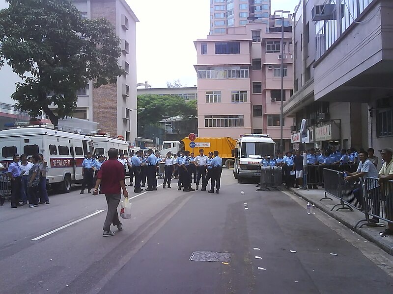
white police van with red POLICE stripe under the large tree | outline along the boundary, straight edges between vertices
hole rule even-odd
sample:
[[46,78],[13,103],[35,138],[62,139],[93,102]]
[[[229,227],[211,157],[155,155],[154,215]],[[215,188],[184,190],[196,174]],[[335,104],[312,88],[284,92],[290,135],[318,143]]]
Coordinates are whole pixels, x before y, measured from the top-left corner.
[[0,162],[5,168],[14,154],[29,157],[42,153],[48,162],[47,183],[54,189],[68,193],[71,184],[82,182],[84,156],[87,152],[94,154],[89,137],[56,130],[51,123],[19,122],[13,126],[0,131]]

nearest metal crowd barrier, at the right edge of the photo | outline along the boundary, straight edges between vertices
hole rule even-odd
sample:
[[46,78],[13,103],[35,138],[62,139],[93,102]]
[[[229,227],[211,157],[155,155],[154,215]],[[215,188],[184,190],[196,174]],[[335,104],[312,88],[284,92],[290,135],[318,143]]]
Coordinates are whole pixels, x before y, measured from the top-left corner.
[[[378,183],[377,178],[366,178],[363,185],[363,200],[365,203],[365,220],[359,226],[384,226],[384,223],[371,222],[370,217],[393,223],[393,181]],[[360,223],[358,221],[355,227]]]

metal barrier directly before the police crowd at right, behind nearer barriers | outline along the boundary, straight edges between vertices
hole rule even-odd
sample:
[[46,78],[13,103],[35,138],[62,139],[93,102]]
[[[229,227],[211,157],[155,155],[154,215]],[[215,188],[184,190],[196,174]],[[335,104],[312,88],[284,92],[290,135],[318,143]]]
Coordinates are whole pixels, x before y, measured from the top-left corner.
[[307,181],[305,186],[316,186],[326,184],[324,181],[324,169],[335,170],[338,172],[356,172],[358,165],[356,164],[331,164],[331,165],[308,165],[306,167]]

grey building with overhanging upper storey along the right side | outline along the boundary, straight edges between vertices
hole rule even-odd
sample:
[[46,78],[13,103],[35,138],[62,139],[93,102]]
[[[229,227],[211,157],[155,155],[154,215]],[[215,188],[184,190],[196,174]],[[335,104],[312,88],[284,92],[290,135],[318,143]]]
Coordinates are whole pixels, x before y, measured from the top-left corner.
[[308,119],[311,145],[392,147],[393,2],[336,2],[301,0],[296,8],[295,93],[284,115],[296,128]]

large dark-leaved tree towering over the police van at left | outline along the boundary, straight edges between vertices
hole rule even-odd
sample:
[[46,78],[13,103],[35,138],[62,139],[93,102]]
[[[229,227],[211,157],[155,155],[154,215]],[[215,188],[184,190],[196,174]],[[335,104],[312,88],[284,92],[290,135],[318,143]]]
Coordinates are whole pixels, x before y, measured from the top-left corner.
[[[16,106],[52,123],[72,116],[79,89],[116,83],[119,39],[106,19],[89,20],[70,0],[7,0],[0,10],[0,66],[19,75]],[[57,107],[56,112],[49,108]]]

